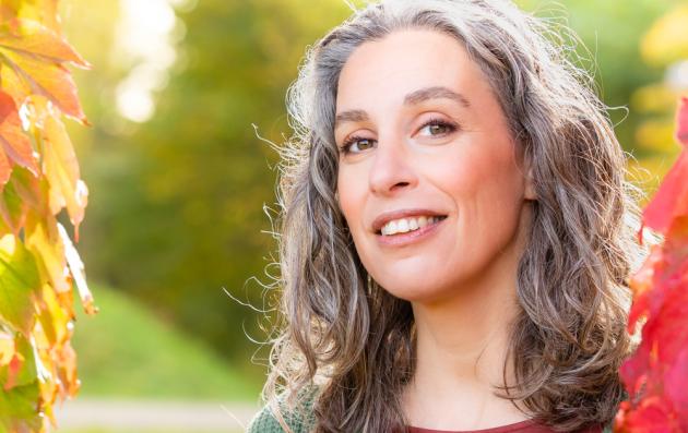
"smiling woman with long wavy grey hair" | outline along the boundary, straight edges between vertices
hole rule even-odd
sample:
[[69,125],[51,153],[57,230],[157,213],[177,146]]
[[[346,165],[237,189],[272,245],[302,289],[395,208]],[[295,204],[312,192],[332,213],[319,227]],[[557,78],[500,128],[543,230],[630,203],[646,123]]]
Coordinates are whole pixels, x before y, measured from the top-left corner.
[[507,1],[385,0],[310,50],[249,431],[608,429],[637,209],[604,106],[547,36]]

